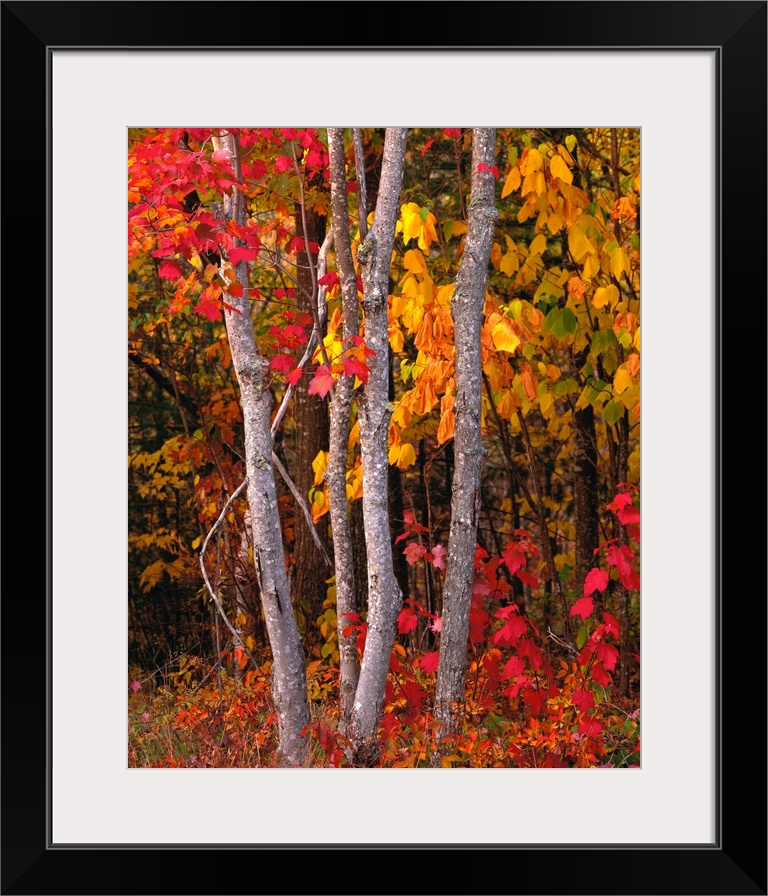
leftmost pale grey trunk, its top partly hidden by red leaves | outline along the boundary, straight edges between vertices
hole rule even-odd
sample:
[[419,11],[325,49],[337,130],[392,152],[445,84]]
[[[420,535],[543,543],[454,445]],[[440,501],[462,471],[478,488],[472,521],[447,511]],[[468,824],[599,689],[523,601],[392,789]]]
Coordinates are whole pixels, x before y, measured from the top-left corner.
[[[239,181],[240,158],[235,138],[223,131],[215,142],[219,144],[216,148],[227,153]],[[237,224],[244,224],[243,197],[234,188],[231,196],[224,197],[224,215]],[[279,761],[284,766],[296,766],[303,765],[305,760],[305,741],[301,732],[309,722],[309,701],[304,651],[285,569],[272,468],[271,400],[265,386],[269,362],[259,354],[253,336],[247,265],[241,262],[234,268],[237,279],[246,289],[241,298],[228,297],[228,304],[235,310],[225,309],[224,319],[240,386],[254,563],[272,650],[272,698],[277,711]]]

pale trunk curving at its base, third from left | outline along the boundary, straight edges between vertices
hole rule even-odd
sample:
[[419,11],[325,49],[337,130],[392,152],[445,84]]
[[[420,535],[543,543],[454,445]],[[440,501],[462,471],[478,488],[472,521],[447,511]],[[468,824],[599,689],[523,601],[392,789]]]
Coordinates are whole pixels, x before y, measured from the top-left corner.
[[397,613],[402,604],[402,593],[392,564],[389,532],[387,441],[392,405],[388,398],[387,298],[406,133],[406,128],[387,128],[373,226],[357,250],[357,260],[363,270],[365,342],[376,352],[369,361],[368,383],[358,407],[363,517],[368,548],[368,631],[350,734],[356,760],[361,764],[370,764],[378,755],[376,731],[384,703]]

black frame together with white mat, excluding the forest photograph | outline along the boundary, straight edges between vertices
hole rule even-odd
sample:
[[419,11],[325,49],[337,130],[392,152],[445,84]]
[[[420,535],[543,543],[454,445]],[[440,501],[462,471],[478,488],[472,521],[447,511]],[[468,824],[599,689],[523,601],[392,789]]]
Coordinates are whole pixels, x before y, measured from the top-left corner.
[[[6,234],[47,236],[49,483],[45,587],[3,606],[4,893],[366,891],[380,886],[371,858],[412,850],[419,879],[400,865],[384,889],[766,893],[764,541],[733,502],[764,470],[749,434],[764,378],[766,8],[380,5],[377,45],[342,47],[322,7],[287,22],[258,3],[3,3]],[[436,33],[435,16],[461,46],[399,45]],[[219,121],[641,129],[641,769],[404,770],[401,783],[127,767],[126,133]],[[158,849],[166,861],[144,870]],[[274,875],[259,861],[238,884],[209,861],[225,849],[259,850]],[[343,878],[318,868],[310,883],[283,855],[326,849],[344,851]]]

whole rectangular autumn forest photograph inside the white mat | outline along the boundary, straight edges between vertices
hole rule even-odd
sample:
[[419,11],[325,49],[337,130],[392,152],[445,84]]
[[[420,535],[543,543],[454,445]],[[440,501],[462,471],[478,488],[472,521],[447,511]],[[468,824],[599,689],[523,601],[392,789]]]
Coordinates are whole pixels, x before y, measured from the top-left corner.
[[127,152],[129,766],[639,768],[639,128]]

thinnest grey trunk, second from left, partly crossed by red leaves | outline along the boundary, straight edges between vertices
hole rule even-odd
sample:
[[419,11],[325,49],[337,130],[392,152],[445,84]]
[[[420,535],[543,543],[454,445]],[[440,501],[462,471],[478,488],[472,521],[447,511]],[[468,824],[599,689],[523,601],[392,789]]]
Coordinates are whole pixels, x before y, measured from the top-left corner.
[[[336,246],[336,266],[341,283],[343,314],[342,338],[344,348],[360,330],[357,307],[357,275],[352,260],[349,235],[349,205],[344,155],[344,131],[328,128],[328,153],[331,167],[331,209],[333,211],[333,240]],[[336,568],[336,618],[339,637],[339,731],[346,734],[352,704],[360,675],[357,653],[357,631],[345,636],[344,630],[352,620],[350,613],[358,613],[355,597],[355,567],[352,550],[352,531],[347,503],[347,451],[349,447],[349,412],[352,406],[354,379],[339,377],[331,400],[330,452],[326,477],[328,503],[333,531],[334,565]]]

